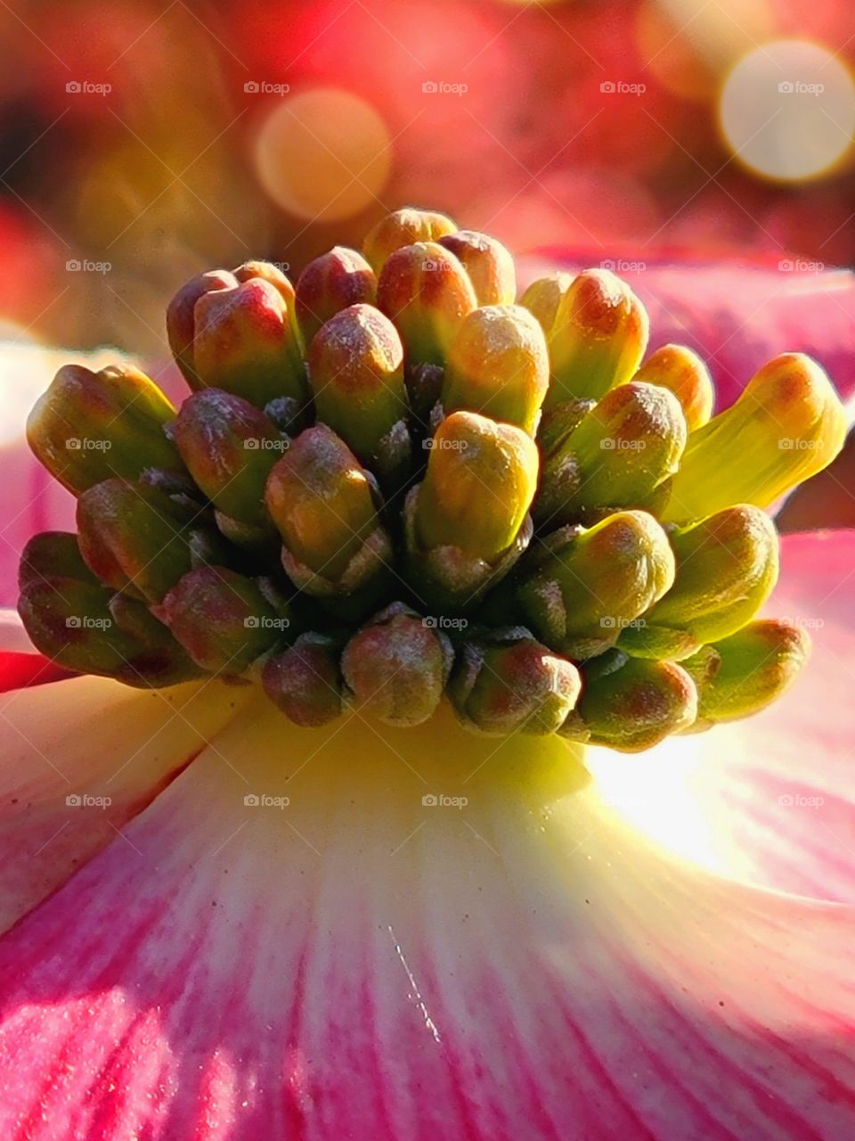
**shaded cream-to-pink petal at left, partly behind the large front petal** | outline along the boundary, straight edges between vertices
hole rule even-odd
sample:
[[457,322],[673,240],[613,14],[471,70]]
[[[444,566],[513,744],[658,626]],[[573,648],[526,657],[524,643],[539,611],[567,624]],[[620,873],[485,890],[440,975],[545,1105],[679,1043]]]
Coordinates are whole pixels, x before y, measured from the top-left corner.
[[121,835],[245,696],[217,682],[140,693],[104,678],[0,695],[0,930]]

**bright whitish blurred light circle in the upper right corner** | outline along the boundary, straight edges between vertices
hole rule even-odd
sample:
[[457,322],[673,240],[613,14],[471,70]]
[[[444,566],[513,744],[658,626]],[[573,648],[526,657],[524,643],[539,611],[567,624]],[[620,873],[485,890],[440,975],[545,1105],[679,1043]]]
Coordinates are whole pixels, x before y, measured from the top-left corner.
[[750,51],[720,98],[725,139],[757,173],[803,181],[831,171],[855,131],[855,82],[831,50],[776,40]]

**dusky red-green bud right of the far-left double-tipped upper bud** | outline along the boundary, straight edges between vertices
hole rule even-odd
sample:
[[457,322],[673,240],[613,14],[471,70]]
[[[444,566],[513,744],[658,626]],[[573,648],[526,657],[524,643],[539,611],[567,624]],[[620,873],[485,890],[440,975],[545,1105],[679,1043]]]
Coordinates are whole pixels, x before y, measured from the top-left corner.
[[260,408],[233,393],[202,389],[181,405],[173,438],[218,511],[262,532],[274,531],[264,488],[288,442]]

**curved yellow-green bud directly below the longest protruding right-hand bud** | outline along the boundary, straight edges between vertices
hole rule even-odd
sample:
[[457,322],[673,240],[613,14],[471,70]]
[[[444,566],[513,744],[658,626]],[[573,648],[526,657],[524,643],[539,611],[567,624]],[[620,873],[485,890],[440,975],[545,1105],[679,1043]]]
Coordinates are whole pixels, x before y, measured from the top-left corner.
[[759,610],[777,581],[777,533],[759,508],[725,508],[669,535],[674,585],[628,629],[620,645],[642,657],[685,657],[734,633]]

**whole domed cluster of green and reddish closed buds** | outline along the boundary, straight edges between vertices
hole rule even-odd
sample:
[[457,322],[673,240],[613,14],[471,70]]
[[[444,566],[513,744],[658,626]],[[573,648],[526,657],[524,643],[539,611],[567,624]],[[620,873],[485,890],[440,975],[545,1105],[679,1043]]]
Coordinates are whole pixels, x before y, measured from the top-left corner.
[[28,439],[78,496],[31,541],[19,610],[62,665],[132,686],[256,681],[300,726],[392,726],[443,695],[495,736],[638,751],[762,709],[801,629],[755,621],[764,510],[845,418],[785,354],[715,418],[703,363],[613,274],[532,283],[442,215],[401,210],[296,289],[194,278],[168,330],[192,394],[67,365]]

